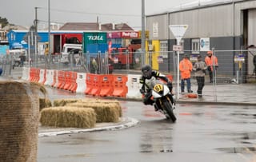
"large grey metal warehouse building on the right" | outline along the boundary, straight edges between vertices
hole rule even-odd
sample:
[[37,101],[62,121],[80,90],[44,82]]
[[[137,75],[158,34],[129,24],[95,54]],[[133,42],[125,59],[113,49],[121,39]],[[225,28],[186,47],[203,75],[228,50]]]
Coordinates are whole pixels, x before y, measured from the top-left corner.
[[[187,25],[186,33],[182,37],[182,53],[190,56],[206,51],[216,50],[218,57],[218,73],[236,75],[242,69],[243,75],[253,73],[253,57],[256,53],[235,52],[233,50],[247,49],[256,45],[256,1],[198,1],[159,14],[146,15],[146,30],[150,31],[147,45],[161,56],[162,63],[154,62],[154,69],[172,72],[174,57],[165,51],[172,51],[176,45],[170,25]],[[234,57],[241,55],[244,61],[237,64]]]

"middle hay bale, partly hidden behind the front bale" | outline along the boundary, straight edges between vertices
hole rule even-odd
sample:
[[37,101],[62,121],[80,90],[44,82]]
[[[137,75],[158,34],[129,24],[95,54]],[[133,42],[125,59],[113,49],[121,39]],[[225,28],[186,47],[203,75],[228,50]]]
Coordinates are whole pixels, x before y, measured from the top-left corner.
[[118,122],[120,116],[119,107],[114,103],[93,103],[93,102],[76,102],[67,106],[78,108],[92,108],[96,113],[96,122]]

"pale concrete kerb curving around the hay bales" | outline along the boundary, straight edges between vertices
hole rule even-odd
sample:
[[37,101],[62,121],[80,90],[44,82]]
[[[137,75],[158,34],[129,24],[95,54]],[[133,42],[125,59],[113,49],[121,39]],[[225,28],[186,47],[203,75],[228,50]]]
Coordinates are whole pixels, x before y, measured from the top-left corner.
[[123,128],[130,128],[138,124],[137,119],[131,117],[122,117],[118,123],[98,123],[95,128],[46,128],[46,130],[40,130],[38,136],[59,136],[65,134],[75,134],[82,132],[95,132],[95,131],[106,131],[106,130],[118,130]]

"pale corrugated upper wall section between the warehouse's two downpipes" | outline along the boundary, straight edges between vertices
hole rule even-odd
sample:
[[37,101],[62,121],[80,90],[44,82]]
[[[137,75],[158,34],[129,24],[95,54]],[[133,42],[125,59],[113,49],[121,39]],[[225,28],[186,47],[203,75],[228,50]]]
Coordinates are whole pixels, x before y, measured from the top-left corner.
[[[183,38],[229,37],[233,35],[233,6],[212,6],[170,14],[170,24],[186,24]],[[174,38],[170,33],[170,38]]]

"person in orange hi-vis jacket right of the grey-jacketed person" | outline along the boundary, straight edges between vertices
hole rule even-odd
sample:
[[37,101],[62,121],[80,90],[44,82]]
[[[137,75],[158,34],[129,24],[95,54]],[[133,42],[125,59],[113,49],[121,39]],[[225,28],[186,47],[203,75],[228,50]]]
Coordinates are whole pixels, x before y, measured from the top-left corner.
[[213,51],[208,51],[205,58],[206,65],[208,66],[210,83],[213,82],[213,77],[216,74],[216,69],[218,68],[218,58],[213,55]]

